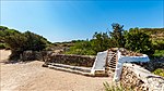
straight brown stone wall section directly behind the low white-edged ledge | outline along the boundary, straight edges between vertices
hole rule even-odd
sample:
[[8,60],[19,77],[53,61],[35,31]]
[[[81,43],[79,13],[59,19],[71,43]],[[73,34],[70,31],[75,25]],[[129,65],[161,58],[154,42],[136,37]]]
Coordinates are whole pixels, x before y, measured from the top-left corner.
[[46,64],[59,63],[74,66],[92,67],[95,61],[95,56],[86,55],[68,55],[51,53],[47,55]]

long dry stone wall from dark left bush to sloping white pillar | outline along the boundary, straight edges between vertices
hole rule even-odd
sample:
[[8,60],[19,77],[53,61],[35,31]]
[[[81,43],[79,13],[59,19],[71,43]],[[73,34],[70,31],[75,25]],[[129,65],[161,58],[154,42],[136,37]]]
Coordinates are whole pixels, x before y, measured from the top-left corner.
[[85,67],[92,67],[95,61],[95,56],[57,54],[51,51],[24,51],[20,57],[22,61],[38,60],[44,61],[46,64],[58,63]]

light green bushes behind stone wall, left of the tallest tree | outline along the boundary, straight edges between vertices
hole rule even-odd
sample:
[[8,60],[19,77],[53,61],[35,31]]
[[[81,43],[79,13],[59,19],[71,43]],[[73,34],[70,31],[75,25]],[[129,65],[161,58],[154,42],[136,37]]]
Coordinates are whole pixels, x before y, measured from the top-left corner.
[[105,51],[112,47],[107,32],[95,32],[93,39],[75,42],[67,54],[96,55],[97,52]]

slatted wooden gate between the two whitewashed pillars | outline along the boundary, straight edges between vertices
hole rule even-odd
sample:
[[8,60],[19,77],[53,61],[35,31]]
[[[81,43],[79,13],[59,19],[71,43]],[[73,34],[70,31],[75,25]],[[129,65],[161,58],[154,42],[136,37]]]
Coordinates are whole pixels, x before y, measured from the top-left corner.
[[106,70],[108,76],[113,77],[117,65],[117,51],[108,50],[106,58]]

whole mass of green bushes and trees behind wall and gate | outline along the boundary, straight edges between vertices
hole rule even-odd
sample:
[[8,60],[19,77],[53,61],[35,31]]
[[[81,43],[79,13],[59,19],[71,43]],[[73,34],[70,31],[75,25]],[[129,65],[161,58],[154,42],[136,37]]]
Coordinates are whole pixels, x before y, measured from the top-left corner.
[[67,53],[92,55],[109,48],[127,48],[134,52],[152,55],[154,50],[162,50],[164,47],[163,40],[156,41],[155,44],[153,44],[151,36],[148,32],[143,32],[142,28],[124,30],[124,26],[117,23],[112,24],[112,26],[113,31],[109,31],[109,34],[95,32],[93,39],[77,42]]

